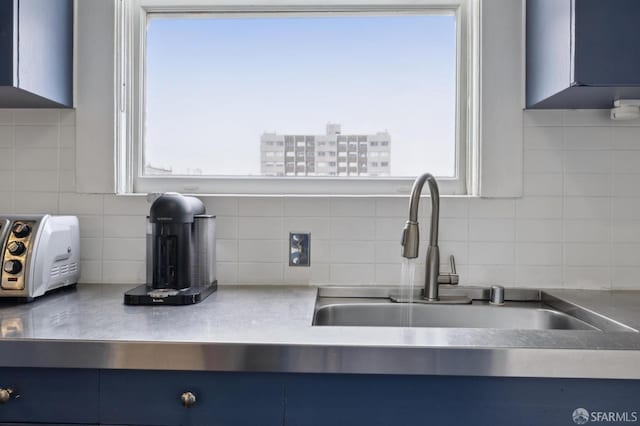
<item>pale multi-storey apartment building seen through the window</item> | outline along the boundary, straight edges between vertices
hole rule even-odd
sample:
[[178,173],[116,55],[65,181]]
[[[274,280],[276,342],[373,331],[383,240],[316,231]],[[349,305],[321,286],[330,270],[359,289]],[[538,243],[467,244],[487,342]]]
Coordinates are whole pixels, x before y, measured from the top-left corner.
[[260,138],[260,172],[266,176],[389,176],[391,136],[343,135],[327,124],[324,135],[264,133]]

